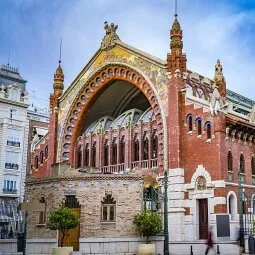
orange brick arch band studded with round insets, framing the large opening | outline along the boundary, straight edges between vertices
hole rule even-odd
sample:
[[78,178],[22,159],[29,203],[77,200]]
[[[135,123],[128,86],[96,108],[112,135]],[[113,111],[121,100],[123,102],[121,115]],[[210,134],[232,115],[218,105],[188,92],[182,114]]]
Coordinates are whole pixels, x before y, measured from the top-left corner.
[[77,94],[68,113],[63,130],[62,141],[60,141],[60,161],[67,161],[73,164],[74,144],[86,121],[86,113],[88,109],[97,100],[98,96],[116,81],[129,82],[133,86],[136,86],[148,99],[153,109],[158,127],[159,166],[162,167],[163,162],[164,166],[167,165],[166,143],[164,143],[164,140],[167,141],[166,121],[164,119],[164,112],[160,105],[157,91],[155,87],[153,88],[151,81],[145,78],[145,75],[141,74],[141,72],[134,67],[120,63],[108,63],[104,65],[96,73],[91,75],[86,84],[84,84]]

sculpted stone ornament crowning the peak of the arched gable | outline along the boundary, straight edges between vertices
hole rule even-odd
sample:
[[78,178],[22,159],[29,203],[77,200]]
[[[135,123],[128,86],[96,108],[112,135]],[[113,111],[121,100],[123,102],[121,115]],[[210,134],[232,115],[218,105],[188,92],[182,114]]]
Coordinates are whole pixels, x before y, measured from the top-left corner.
[[111,25],[108,25],[108,22],[105,21],[104,29],[105,29],[105,36],[101,43],[101,49],[109,50],[114,47],[116,41],[120,40],[119,36],[116,33],[116,30],[118,29],[118,25],[114,25],[114,23],[111,23]]

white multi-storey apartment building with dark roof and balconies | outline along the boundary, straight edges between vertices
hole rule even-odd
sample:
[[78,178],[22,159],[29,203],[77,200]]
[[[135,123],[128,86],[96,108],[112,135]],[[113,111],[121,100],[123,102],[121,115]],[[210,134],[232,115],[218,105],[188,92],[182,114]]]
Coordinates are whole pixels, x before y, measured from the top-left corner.
[[28,93],[17,68],[0,66],[0,237],[17,231],[28,148]]

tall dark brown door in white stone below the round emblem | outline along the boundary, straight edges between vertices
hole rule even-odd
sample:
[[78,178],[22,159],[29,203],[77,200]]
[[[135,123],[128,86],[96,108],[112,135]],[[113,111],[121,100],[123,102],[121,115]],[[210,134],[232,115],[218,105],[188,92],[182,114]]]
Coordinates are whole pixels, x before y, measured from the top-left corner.
[[199,239],[207,239],[208,237],[208,200],[198,200],[199,213]]

